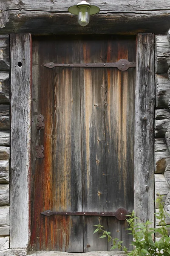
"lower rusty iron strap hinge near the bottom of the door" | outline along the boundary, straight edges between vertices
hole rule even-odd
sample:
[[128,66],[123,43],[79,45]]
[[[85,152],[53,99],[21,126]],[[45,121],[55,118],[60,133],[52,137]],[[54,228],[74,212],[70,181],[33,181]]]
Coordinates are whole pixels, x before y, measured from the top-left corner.
[[125,221],[127,218],[127,212],[124,208],[119,208],[116,212],[51,212],[50,210],[46,210],[45,212],[41,212],[41,214],[45,216],[51,215],[79,215],[79,216],[106,216],[106,217],[116,217],[119,221]]

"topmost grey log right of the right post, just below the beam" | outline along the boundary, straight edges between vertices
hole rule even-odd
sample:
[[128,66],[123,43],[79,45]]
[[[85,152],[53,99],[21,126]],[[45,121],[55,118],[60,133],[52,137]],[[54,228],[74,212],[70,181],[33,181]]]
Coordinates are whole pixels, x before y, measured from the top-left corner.
[[167,39],[167,35],[156,35],[156,55],[157,56],[170,56],[170,43]]

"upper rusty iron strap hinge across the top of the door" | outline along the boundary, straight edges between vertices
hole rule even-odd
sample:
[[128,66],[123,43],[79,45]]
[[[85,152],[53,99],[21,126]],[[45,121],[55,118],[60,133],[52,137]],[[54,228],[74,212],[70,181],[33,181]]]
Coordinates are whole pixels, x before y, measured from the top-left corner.
[[70,63],[70,64],[62,64],[62,63],[53,63],[49,62],[44,64],[43,66],[48,68],[53,67],[117,67],[121,71],[128,70],[129,67],[136,67],[136,62],[129,62],[127,59],[120,59],[117,62],[110,63]]

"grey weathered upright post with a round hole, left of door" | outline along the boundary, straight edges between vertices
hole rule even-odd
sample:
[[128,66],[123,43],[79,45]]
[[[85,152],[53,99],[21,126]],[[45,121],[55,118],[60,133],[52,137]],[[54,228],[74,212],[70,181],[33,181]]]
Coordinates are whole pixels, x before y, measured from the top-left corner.
[[[18,66],[18,62],[22,66]],[[29,239],[31,35],[11,35],[11,248]],[[24,218],[23,218],[24,216]]]

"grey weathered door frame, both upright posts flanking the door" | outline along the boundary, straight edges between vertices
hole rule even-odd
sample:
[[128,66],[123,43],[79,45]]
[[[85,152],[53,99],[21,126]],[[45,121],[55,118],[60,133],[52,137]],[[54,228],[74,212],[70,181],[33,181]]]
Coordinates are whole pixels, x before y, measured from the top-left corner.
[[[134,210],[154,222],[154,35],[138,34],[136,49]],[[10,248],[22,255],[30,239],[31,64],[31,34],[11,34]]]

